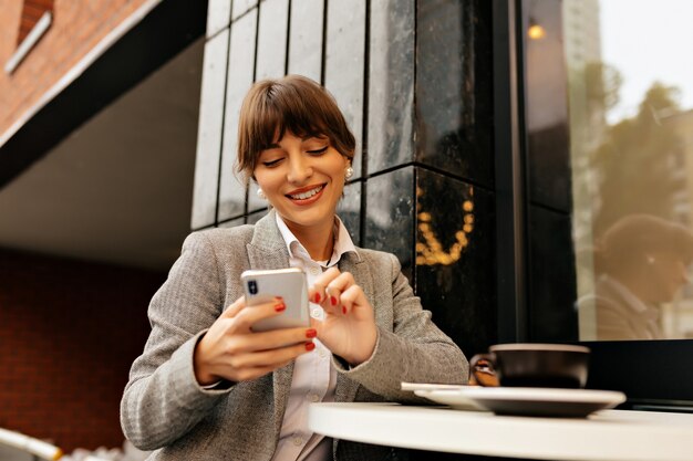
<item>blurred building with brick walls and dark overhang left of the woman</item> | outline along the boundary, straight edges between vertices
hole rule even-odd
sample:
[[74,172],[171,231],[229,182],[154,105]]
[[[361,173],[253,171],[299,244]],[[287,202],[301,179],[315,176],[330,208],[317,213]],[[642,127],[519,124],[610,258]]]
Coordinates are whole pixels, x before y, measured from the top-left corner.
[[2,428],[123,443],[146,306],[189,231],[206,9],[2,2]]

